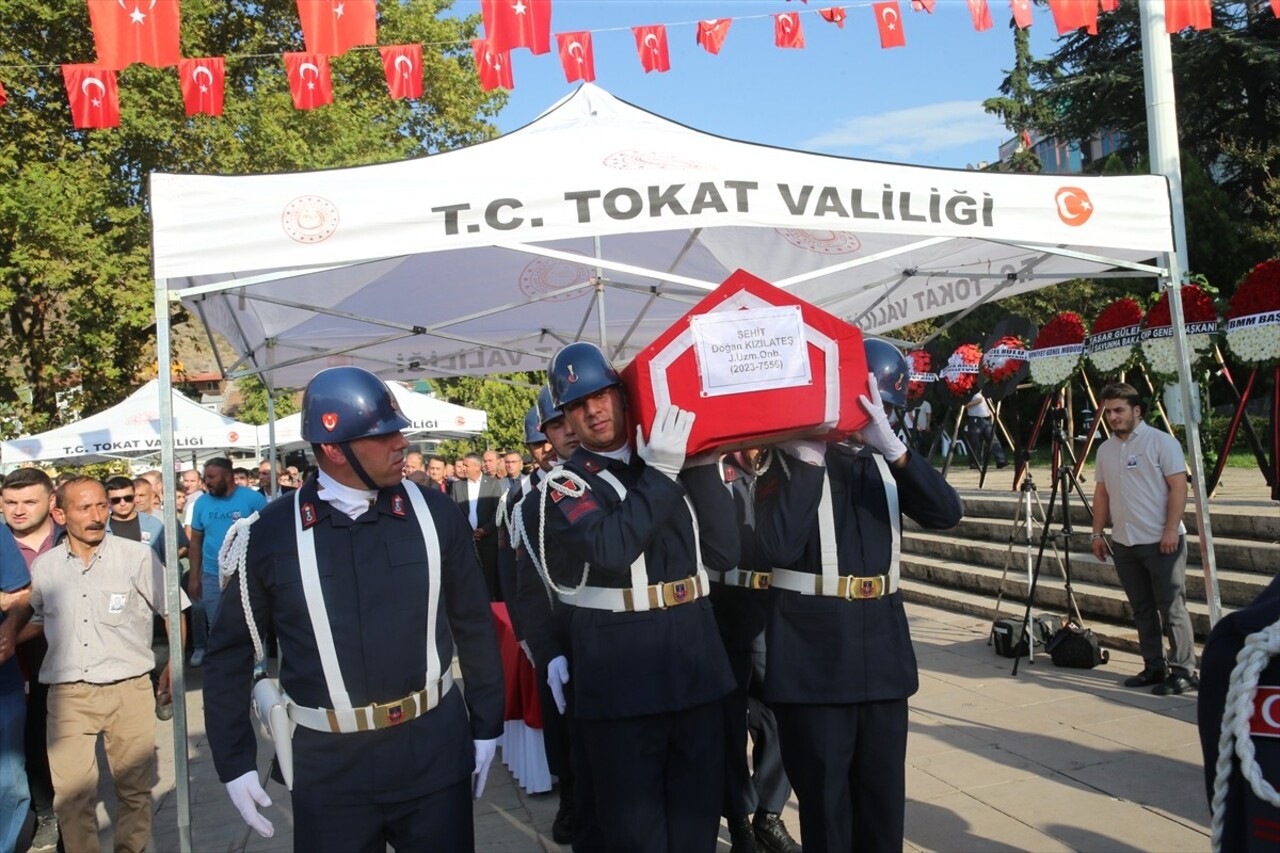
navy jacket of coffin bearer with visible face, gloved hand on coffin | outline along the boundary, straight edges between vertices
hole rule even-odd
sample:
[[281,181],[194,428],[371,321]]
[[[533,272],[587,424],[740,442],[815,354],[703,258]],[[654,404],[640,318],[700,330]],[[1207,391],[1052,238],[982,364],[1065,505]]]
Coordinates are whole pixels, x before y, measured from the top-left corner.
[[[716,465],[689,469],[677,483],[639,456],[628,465],[580,447],[564,467],[591,488],[580,498],[552,502],[548,512],[548,539],[564,555],[550,567],[561,587],[576,587],[589,562],[588,584],[627,588],[631,564],[641,553],[650,584],[692,575],[698,564],[686,489],[703,520],[705,566],[723,571],[737,565],[737,529],[727,523],[732,507]],[[604,467],[626,487],[626,501],[598,475]],[[573,694],[582,720],[682,711],[719,699],[733,686],[707,598],[658,611],[573,607],[572,613]]]

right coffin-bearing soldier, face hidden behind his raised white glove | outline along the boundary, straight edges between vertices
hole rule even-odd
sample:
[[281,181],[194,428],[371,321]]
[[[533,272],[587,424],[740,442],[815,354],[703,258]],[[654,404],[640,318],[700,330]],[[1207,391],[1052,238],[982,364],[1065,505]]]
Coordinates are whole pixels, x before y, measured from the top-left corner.
[[[902,444],[908,368],[868,341],[870,423],[851,443],[788,442],[756,483],[756,538],[773,571],[764,699],[800,800],[808,853],[901,850],[906,699],[919,688],[899,592],[901,514],[955,526],[955,489]],[[783,470],[785,469],[785,470]]]

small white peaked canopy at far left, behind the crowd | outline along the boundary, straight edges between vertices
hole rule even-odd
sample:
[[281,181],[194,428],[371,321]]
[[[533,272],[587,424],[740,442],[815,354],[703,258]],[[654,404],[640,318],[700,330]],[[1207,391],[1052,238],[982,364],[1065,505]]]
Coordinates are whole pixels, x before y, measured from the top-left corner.
[[[0,462],[88,464],[145,456],[160,452],[160,383],[152,379],[106,411],[47,433],[0,442]],[[173,394],[173,437],[174,446],[183,452],[259,450],[257,426],[224,418],[177,391]]]

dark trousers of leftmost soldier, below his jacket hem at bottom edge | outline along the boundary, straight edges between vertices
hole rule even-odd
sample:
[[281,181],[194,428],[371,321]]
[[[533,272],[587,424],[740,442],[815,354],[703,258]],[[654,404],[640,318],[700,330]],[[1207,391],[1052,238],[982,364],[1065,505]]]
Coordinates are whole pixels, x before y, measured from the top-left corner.
[[293,849],[300,853],[475,850],[471,779],[402,803],[317,803],[293,794]]

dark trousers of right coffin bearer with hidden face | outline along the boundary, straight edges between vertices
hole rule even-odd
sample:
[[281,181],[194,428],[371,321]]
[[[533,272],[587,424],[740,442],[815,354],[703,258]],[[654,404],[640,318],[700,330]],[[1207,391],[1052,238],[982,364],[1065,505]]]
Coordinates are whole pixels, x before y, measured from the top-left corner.
[[777,704],[805,853],[902,849],[906,699]]

